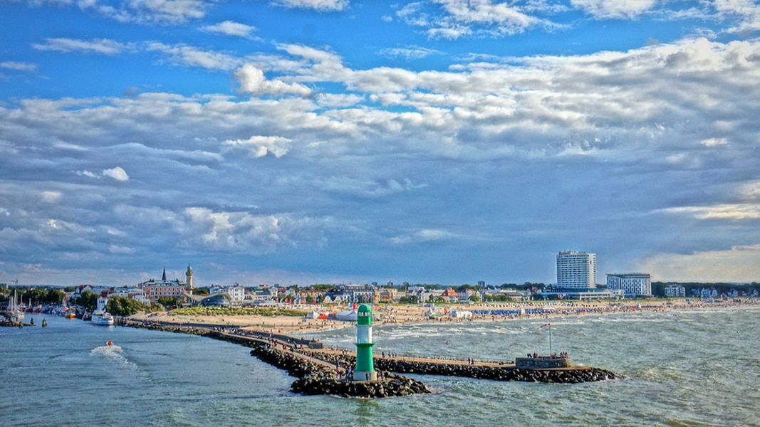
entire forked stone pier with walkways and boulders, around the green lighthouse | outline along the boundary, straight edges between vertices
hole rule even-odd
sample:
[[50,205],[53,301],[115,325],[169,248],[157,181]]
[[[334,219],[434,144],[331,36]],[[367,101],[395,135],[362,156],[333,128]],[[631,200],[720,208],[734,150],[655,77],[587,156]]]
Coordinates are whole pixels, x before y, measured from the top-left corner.
[[[495,381],[530,381],[574,384],[625,378],[619,373],[584,365],[572,365],[568,358],[531,357],[533,365],[511,362],[442,359],[435,356],[373,356],[375,375],[363,381],[354,375],[356,350],[325,347],[318,340],[282,334],[268,334],[227,327],[197,327],[160,324],[122,318],[119,324],[159,331],[196,334],[251,347],[251,355],[298,378],[291,391],[302,394],[331,394],[344,397],[394,397],[430,393],[421,381],[401,374],[448,375]],[[543,361],[543,362],[539,362]],[[518,364],[515,364],[518,362]],[[543,363],[543,365],[537,365]],[[366,365],[366,362],[364,362]],[[560,366],[562,365],[562,366]]]

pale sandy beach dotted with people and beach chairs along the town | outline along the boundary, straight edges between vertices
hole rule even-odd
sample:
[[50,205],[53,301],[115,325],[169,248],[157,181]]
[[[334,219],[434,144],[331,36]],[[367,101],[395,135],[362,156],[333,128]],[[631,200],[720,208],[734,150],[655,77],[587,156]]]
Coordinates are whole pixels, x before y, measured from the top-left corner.
[[[760,299],[743,302],[701,302],[686,299],[673,300],[632,300],[632,301],[567,301],[567,302],[515,302],[502,304],[435,305],[435,317],[431,318],[431,307],[419,305],[382,304],[375,305],[375,324],[420,324],[456,323],[470,321],[511,321],[518,319],[552,319],[568,316],[604,315],[620,312],[665,312],[701,308],[728,308],[737,305],[757,305]],[[350,308],[321,305],[288,305],[287,308],[303,312],[335,314],[350,311]],[[542,314],[530,312],[543,309]],[[483,314],[483,312],[512,312],[511,314]],[[452,312],[469,312],[467,318],[454,318]],[[515,313],[517,312],[517,313]],[[353,327],[353,322],[334,319],[311,319],[293,316],[262,315],[176,315],[169,313],[139,313],[131,316],[135,320],[157,321],[166,324],[194,326],[233,326],[251,331],[265,331],[277,334],[304,334],[326,331],[341,327]]]

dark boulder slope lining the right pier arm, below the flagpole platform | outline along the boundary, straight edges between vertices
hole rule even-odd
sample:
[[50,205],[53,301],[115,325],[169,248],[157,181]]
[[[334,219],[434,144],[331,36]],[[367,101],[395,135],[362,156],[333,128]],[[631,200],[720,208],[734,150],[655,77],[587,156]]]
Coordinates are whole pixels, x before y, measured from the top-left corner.
[[[333,364],[353,365],[350,355],[315,352],[315,357]],[[622,379],[625,376],[606,369],[588,366],[571,366],[555,369],[524,369],[514,365],[483,366],[451,362],[421,362],[404,358],[375,358],[375,368],[402,374],[446,375],[496,381],[528,381],[575,384],[581,382]]]

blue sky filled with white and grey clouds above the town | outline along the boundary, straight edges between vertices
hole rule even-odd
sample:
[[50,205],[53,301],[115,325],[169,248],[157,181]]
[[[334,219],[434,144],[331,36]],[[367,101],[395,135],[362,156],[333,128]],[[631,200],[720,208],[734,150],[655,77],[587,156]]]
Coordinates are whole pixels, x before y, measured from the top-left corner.
[[0,0],[0,282],[760,281],[749,0]]

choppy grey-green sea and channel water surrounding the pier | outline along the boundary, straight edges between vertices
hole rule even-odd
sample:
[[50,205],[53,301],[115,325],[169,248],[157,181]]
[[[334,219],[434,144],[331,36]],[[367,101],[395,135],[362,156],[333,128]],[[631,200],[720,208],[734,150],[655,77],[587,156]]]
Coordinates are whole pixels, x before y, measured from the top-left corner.
[[[629,379],[420,375],[435,394],[360,400],[291,394],[293,378],[235,344],[48,317],[45,328],[0,328],[0,425],[760,425],[758,320],[758,308],[556,319],[553,351]],[[513,359],[548,351],[542,323],[379,326],[373,336],[378,353]],[[354,334],[318,337],[352,346]]]

